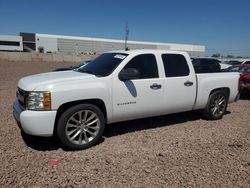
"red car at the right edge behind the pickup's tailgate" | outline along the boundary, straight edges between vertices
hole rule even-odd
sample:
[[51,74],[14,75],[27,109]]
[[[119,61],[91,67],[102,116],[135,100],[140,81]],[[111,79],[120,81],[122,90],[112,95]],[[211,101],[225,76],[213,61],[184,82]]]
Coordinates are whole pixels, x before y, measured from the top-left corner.
[[225,72],[239,72],[240,73],[240,91],[250,90],[250,64],[241,64],[230,66],[224,70]]

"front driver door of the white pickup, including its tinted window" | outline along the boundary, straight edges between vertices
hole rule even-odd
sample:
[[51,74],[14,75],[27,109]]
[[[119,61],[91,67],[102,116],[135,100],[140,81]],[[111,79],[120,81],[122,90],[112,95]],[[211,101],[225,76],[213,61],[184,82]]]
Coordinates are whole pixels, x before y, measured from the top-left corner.
[[163,110],[163,80],[154,54],[132,58],[123,69],[135,68],[138,79],[113,79],[113,122],[159,115]]

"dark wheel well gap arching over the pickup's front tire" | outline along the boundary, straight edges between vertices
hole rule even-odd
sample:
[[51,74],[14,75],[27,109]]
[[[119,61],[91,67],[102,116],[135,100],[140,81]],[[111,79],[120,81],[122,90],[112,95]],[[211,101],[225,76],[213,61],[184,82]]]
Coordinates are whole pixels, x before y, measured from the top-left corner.
[[59,120],[60,116],[62,115],[62,113],[65,112],[67,109],[71,108],[72,106],[75,106],[78,104],[83,104],[83,103],[93,104],[93,105],[97,106],[98,108],[100,108],[100,110],[102,111],[102,113],[104,115],[105,121],[107,120],[106,106],[101,99],[86,99],[86,100],[67,102],[67,103],[62,104],[57,110],[56,119],[55,119],[55,123],[54,123],[54,131],[53,131],[54,135],[56,134],[58,120]]

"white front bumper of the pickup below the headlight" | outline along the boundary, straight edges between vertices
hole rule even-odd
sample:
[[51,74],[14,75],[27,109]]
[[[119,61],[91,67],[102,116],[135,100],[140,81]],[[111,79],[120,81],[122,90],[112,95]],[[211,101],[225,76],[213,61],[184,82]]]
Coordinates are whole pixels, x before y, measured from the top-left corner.
[[26,134],[45,137],[53,135],[56,111],[23,110],[16,100],[13,103],[13,115]]

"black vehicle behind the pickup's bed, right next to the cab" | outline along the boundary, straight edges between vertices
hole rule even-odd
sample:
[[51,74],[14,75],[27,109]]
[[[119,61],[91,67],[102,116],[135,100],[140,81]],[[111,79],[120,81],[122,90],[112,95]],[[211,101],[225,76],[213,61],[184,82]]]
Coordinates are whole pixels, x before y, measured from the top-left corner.
[[213,58],[191,58],[196,73],[221,72],[221,61]]

